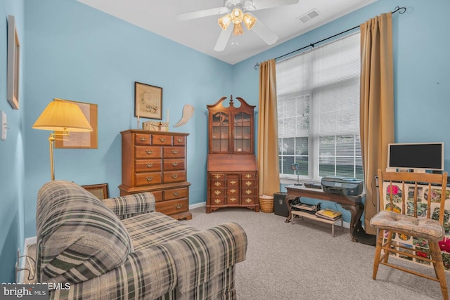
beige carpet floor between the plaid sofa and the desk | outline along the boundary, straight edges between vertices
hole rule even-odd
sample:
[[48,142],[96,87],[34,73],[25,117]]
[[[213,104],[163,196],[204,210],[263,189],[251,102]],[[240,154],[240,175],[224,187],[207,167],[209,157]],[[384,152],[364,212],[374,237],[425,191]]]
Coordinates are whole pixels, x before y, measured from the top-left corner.
[[[372,279],[375,247],[352,242],[349,230],[314,220],[285,223],[285,217],[245,208],[191,209],[185,221],[199,229],[235,221],[248,235],[247,259],[236,265],[238,299],[442,299],[439,282],[378,269]],[[405,264],[399,259],[402,266]],[[433,268],[413,264],[434,276]],[[450,274],[446,273],[450,287]]]

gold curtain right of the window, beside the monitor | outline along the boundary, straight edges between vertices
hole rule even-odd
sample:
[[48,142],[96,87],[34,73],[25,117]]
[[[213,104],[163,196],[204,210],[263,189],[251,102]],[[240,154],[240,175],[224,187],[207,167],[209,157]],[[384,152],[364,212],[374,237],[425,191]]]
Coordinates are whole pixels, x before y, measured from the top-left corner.
[[361,30],[361,154],[366,183],[364,223],[377,213],[375,176],[387,166],[387,144],[394,143],[394,67],[392,13],[383,13],[360,25]]

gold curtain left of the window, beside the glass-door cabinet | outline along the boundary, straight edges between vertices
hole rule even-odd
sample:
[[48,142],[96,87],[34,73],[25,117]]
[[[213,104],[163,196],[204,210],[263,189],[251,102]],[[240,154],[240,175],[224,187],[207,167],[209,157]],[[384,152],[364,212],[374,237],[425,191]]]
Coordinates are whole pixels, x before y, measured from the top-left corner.
[[275,60],[273,59],[259,66],[257,149],[259,195],[274,195],[280,190],[280,169],[278,167]]

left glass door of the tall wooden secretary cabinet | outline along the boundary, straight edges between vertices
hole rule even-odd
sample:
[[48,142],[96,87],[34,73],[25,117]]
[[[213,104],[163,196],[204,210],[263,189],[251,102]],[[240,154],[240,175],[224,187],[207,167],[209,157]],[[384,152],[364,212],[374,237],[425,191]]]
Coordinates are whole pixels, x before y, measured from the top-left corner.
[[229,152],[229,115],[217,112],[212,115],[212,152]]

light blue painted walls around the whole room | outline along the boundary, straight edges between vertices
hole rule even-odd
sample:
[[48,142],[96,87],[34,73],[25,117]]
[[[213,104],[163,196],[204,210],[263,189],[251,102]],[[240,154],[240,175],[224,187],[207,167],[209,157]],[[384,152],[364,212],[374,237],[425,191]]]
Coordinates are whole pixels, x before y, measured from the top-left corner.
[[[410,0],[408,12],[393,16],[394,103],[397,142],[443,141],[450,166],[450,2]],[[253,58],[228,65],[75,0],[0,0],[0,39],[6,16],[15,15],[21,38],[20,110],[6,102],[0,77],[0,109],[8,114],[8,140],[0,141],[0,282],[14,280],[15,250],[36,234],[39,187],[49,181],[49,131],[31,126],[53,98],[98,104],[98,149],[55,150],[57,179],[79,184],[108,183],[119,195],[120,131],[136,128],[134,81],[163,88],[163,112],[173,125],[184,104],[195,116],[179,129],[188,136],[191,203],[206,200],[206,105],[221,96],[243,97],[258,105],[255,63],[275,58],[403,6],[378,0],[370,6],[286,41]],[[439,9],[436,9],[439,8]],[[26,51],[25,51],[26,41]],[[0,70],[6,74],[6,45],[0,44]],[[25,158],[24,158],[25,157]],[[25,207],[25,209],[24,209]],[[25,214],[25,216],[24,216]],[[349,215],[345,215],[346,221]]]

